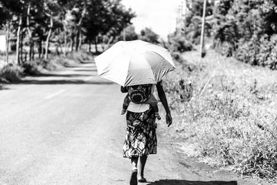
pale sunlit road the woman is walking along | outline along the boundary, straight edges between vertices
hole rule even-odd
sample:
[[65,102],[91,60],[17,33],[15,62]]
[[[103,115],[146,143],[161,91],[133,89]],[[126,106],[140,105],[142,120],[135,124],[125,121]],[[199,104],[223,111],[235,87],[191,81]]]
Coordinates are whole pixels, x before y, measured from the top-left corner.
[[[128,184],[131,164],[121,149],[123,98],[118,85],[97,76],[94,63],[4,86],[0,184]],[[158,155],[150,156],[145,167],[148,184],[230,184],[223,181],[237,179],[244,184],[235,176],[202,173],[193,162],[180,162],[184,156],[166,130],[158,127],[157,132]]]

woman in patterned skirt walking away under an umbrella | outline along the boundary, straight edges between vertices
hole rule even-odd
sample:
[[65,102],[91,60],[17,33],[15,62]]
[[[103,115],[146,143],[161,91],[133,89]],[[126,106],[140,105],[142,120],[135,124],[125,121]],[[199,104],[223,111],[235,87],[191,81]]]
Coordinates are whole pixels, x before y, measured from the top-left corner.
[[[141,89],[145,91],[154,91],[153,85],[140,85]],[[166,124],[168,127],[172,123],[170,109],[166,94],[163,91],[162,82],[158,82],[157,91],[163,107],[166,109]],[[147,89],[147,88],[150,88]],[[128,91],[127,87],[121,87],[123,93]],[[123,157],[131,159],[132,175],[130,184],[138,184],[139,182],[146,182],[144,178],[144,167],[148,155],[157,154],[157,136],[155,123],[156,118],[153,107],[148,104],[135,104],[130,102],[126,114],[127,119],[127,134],[123,145]],[[137,168],[139,162],[139,168]]]

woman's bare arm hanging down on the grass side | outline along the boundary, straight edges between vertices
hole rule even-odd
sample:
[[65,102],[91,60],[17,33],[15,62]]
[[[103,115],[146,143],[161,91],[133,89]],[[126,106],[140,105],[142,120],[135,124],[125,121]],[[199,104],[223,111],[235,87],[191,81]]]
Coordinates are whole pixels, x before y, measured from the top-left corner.
[[171,117],[171,114],[170,114],[170,109],[168,107],[168,100],[166,99],[166,94],[163,91],[162,82],[161,81],[158,82],[156,86],[157,86],[158,96],[161,100],[161,103],[163,104],[163,107],[166,109],[166,124],[169,127],[172,123],[172,117]]

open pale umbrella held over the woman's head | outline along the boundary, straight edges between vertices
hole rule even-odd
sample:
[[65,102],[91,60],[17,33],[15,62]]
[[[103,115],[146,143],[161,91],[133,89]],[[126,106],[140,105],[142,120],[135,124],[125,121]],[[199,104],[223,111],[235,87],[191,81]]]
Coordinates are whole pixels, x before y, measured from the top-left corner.
[[95,61],[99,76],[124,87],[157,84],[175,69],[170,51],[141,40],[116,42]]

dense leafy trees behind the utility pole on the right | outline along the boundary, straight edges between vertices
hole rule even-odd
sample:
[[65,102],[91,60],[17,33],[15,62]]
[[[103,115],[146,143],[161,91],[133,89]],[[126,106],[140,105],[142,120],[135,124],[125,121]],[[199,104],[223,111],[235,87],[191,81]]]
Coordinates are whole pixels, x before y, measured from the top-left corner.
[[[199,44],[203,2],[197,0],[187,3],[188,13],[181,37],[189,43]],[[222,55],[234,56],[248,64],[277,69],[275,0],[209,1],[205,35],[213,40],[214,48]]]

